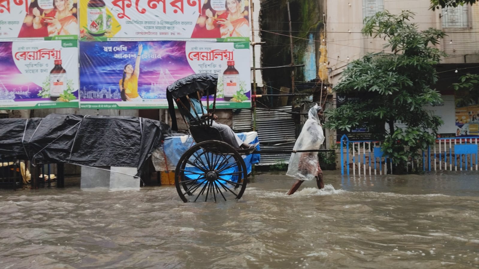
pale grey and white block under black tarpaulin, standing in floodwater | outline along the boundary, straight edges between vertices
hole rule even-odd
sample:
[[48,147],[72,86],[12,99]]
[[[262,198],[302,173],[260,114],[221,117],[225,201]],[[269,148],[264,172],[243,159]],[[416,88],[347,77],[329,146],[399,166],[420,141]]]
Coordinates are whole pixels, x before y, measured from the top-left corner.
[[130,176],[137,173],[137,168],[115,166],[98,168],[81,167],[80,188],[82,190],[124,191],[140,189],[140,178]]

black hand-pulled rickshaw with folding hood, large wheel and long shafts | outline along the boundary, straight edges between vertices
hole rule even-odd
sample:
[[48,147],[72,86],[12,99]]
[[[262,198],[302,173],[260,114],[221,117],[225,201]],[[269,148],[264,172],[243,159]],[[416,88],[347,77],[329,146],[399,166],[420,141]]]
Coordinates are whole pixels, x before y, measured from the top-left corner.
[[[223,140],[220,132],[212,126],[216,110],[217,74],[193,74],[178,79],[167,87],[167,99],[171,114],[171,129],[177,130],[173,100],[193,137],[191,146],[180,157],[175,169],[175,187],[183,202],[210,200],[237,200],[243,195],[248,182],[248,172],[242,155],[259,153],[255,147],[235,148]],[[207,113],[194,110],[189,95],[204,91]],[[212,106],[210,108],[210,97]],[[193,107],[194,115],[190,112]],[[296,152],[324,150],[297,150]],[[262,153],[285,153],[270,150]],[[188,199],[189,197],[190,199]]]

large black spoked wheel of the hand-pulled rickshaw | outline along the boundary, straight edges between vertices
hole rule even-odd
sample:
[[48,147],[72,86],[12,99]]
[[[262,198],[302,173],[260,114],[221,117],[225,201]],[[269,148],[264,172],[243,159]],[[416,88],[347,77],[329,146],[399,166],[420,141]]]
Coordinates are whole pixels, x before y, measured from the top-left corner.
[[183,202],[235,200],[246,188],[248,172],[238,151],[210,140],[190,147],[175,169],[175,186]]

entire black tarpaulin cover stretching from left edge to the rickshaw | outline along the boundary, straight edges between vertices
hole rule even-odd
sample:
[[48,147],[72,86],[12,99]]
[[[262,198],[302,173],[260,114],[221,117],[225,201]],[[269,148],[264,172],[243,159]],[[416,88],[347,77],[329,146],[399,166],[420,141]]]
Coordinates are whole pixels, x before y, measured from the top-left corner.
[[36,163],[135,167],[138,174],[170,126],[137,117],[50,114],[1,119],[0,158]]

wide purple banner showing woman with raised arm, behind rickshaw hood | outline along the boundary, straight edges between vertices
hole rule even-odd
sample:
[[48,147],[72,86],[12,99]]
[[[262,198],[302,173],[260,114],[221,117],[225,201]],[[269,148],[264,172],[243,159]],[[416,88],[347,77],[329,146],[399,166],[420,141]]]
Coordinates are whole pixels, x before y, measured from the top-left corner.
[[175,80],[215,73],[217,109],[250,108],[249,48],[248,42],[80,42],[80,107],[168,108],[166,87]]

